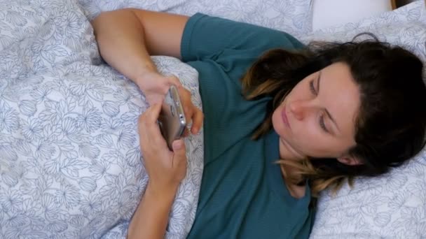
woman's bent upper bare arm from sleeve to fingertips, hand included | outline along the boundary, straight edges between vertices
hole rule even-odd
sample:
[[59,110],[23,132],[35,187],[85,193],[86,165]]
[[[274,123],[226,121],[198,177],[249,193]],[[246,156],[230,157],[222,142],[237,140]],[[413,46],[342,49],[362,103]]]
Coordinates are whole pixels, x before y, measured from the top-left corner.
[[202,112],[191,102],[191,93],[176,77],[157,72],[150,55],[180,57],[181,38],[188,17],[133,8],[104,12],[91,23],[101,56],[137,84],[150,105],[161,103],[170,85],[179,89],[192,133],[202,126]]

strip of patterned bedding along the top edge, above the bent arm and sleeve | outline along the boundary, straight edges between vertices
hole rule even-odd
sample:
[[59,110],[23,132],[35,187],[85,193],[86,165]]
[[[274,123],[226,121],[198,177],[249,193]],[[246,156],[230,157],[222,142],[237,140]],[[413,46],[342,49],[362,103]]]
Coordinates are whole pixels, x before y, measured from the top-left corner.
[[183,15],[205,13],[302,36],[311,31],[311,0],[78,0],[91,18],[101,10],[143,8]]

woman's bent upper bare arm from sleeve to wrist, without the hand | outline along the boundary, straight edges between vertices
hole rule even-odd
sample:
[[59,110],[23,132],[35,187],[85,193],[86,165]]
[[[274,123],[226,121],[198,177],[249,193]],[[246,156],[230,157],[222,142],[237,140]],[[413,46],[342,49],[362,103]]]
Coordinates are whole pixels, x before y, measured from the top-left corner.
[[180,57],[188,17],[133,8],[101,13],[92,21],[99,51],[107,63],[139,85],[156,71],[150,55]]

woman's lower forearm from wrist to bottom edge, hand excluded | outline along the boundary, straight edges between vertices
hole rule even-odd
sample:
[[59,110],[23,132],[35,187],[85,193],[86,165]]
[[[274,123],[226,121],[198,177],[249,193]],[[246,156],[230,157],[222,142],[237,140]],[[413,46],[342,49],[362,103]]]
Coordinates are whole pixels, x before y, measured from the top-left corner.
[[148,186],[130,222],[128,239],[164,238],[176,191],[177,188],[158,194]]

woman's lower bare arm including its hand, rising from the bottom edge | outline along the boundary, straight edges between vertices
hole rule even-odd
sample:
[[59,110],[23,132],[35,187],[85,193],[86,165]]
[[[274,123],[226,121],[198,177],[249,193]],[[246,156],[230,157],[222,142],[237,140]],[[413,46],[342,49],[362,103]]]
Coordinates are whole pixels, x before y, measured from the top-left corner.
[[186,175],[184,140],[175,140],[173,151],[169,150],[157,125],[160,110],[156,104],[139,117],[139,141],[149,182],[130,222],[128,239],[164,238],[174,196]]

